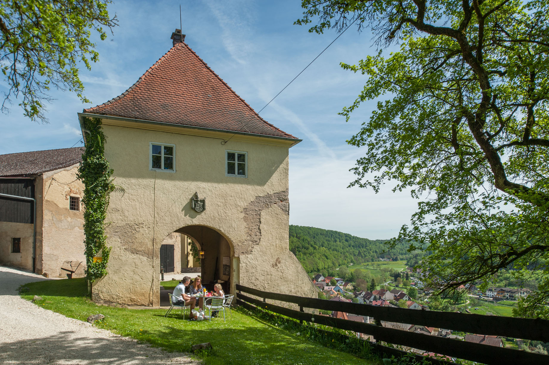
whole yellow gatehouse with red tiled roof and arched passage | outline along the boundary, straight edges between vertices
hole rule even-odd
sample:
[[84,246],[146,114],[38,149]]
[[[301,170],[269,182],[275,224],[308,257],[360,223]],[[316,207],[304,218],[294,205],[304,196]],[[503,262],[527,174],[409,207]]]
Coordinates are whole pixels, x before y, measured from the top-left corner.
[[[316,296],[288,250],[288,149],[183,43],[121,96],[79,113],[99,118],[117,189],[107,214],[108,275],[96,301],[160,304],[160,250],[177,232],[204,248],[204,282]],[[83,135],[86,137],[85,128]]]

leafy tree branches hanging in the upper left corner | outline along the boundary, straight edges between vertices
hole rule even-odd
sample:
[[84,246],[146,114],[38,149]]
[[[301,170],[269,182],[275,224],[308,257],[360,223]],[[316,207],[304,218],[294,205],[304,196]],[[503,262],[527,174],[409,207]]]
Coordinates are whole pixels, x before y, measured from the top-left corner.
[[79,63],[90,69],[99,54],[89,39],[92,30],[104,40],[116,25],[110,0],[3,0],[0,2],[0,69],[8,90],[2,111],[18,99],[24,115],[47,121],[44,101],[51,88],[75,92],[83,103]]

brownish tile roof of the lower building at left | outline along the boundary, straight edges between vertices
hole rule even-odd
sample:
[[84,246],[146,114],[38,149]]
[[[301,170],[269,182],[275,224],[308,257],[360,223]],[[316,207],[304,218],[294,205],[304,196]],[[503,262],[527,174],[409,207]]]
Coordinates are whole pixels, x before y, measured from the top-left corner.
[[0,176],[21,176],[63,169],[82,161],[84,147],[0,155]]

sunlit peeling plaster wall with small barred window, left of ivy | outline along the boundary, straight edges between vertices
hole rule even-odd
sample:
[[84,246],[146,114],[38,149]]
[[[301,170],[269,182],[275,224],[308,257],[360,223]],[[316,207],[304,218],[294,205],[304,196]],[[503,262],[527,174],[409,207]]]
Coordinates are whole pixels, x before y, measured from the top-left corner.
[[[37,252],[41,255],[37,255],[40,261],[37,268],[49,277],[66,277],[68,272],[61,269],[65,261],[82,262],[86,266],[83,206],[80,211],[69,210],[69,197],[83,196],[84,187],[76,179],[77,170],[78,165],[73,165],[46,172],[42,189],[36,189],[37,198],[42,200],[41,237],[37,239]],[[79,276],[83,276],[81,269],[72,277]]]

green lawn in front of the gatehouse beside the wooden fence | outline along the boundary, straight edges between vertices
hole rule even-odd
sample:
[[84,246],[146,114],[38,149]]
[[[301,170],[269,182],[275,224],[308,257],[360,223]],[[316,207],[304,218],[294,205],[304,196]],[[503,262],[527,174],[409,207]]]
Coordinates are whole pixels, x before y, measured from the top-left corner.
[[211,342],[212,351],[197,355],[205,364],[379,364],[320,346],[238,310],[232,311],[232,318],[226,323],[219,317],[211,322],[193,322],[181,319],[176,310],[165,318],[166,310],[96,305],[86,297],[84,279],[51,280],[24,287],[29,289],[21,296],[27,300],[41,296],[43,300],[37,305],[43,308],[81,321],[91,314],[102,313],[105,319],[98,327],[167,351],[188,352],[192,344]]

